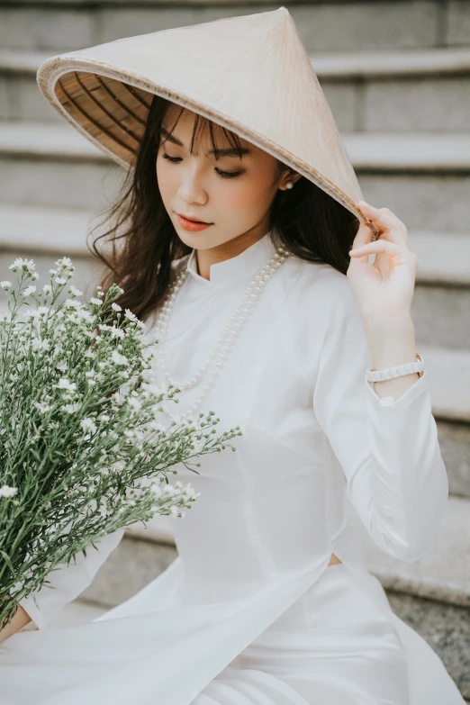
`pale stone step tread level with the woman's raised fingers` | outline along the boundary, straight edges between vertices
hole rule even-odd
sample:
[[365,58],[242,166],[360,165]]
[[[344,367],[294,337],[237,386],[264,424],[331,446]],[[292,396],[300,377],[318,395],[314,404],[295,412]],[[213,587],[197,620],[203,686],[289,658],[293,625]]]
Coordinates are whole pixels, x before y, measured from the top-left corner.
[[[0,203],[2,251],[86,257],[86,233],[94,214],[82,210]],[[409,232],[420,260],[417,281],[426,285],[470,286],[470,231]],[[469,345],[470,347],[470,345]]]

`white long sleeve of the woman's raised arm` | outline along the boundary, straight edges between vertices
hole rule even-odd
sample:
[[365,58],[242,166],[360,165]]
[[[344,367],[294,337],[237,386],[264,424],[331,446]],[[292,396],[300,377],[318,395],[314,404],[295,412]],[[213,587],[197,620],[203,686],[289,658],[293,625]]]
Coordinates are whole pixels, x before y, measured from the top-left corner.
[[347,478],[348,496],[387,554],[413,561],[435,546],[448,481],[425,371],[399,399],[366,380],[366,333],[346,277],[324,281],[329,326],[314,412]]

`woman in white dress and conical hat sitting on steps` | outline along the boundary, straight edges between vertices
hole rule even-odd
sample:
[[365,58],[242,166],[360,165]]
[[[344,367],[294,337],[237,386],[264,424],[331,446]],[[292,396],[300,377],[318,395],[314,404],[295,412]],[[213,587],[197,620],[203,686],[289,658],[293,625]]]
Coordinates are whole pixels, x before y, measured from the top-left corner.
[[[285,8],[203,32],[229,51],[224,32],[245,36],[240,20],[249,47],[258,47],[253,31],[271,23],[285,56],[301,55]],[[183,30],[180,51],[190,54],[194,28]],[[138,38],[140,48],[150,36]],[[175,36],[161,41],[180,46]],[[284,46],[275,45],[278,53]],[[301,75],[305,65],[294,66]],[[122,111],[122,95],[115,75],[101,93],[95,76],[69,73],[54,95],[70,122],[123,160],[136,132],[128,121],[125,142],[104,129],[103,115],[117,122],[106,96]],[[322,170],[300,158],[297,170],[273,154],[282,153],[274,140],[262,149],[201,118],[202,100],[193,111],[160,87],[146,103],[131,185],[113,211],[121,217],[110,234],[124,247],[110,281],[157,337],[156,372],[182,390],[181,415],[213,409],[221,428],[240,424],[243,436],[235,453],[205,456],[200,475],[181,467],[201,496],[185,520],[170,520],[176,561],[131,600],[90,624],[47,630],[50,615],[91,582],[118,532],[52,574],[55,591],[22,601],[16,628],[31,617],[40,631],[0,646],[3,705],[464,702],[358,555],[366,538],[403,561],[426,555],[447,474],[411,321],[417,259],[393,212],[362,199],[351,205],[343,187],[358,186],[316,90],[323,122],[315,129],[332,140]],[[236,95],[233,86],[228,93]],[[88,111],[101,101],[101,123],[79,95]],[[282,92],[267,98],[268,111],[282,111]],[[287,161],[295,162],[292,152]],[[338,169],[336,182],[325,176],[330,164],[342,164],[344,178]],[[381,381],[366,378],[371,367],[395,366]],[[166,414],[174,418],[175,408]]]

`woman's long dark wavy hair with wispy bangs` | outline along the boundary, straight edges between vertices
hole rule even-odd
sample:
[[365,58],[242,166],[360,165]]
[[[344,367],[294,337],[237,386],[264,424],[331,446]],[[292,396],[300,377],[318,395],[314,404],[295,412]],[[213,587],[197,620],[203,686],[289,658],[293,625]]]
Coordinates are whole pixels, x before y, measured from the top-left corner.
[[[120,285],[124,293],[118,303],[142,321],[166,294],[172,281],[172,261],[191,252],[178,238],[158,190],[156,157],[160,127],[170,105],[167,99],[154,96],[132,168],[125,176],[118,200],[104,212],[104,221],[110,227],[101,232],[92,245],[92,253],[105,267],[101,282],[104,291],[113,282]],[[181,108],[171,131],[183,110]],[[217,156],[213,123],[199,114],[194,120],[191,153],[198,130],[206,124]],[[231,147],[241,148],[236,134],[225,128],[223,133]],[[278,160],[277,167],[280,174],[285,164]],[[298,258],[330,264],[346,274],[348,251],[359,221],[354,213],[317,185],[301,176],[294,188],[277,190],[269,217],[276,247],[283,245]],[[88,237],[93,236],[104,221],[98,223]],[[107,245],[105,254],[97,247],[100,240]]]

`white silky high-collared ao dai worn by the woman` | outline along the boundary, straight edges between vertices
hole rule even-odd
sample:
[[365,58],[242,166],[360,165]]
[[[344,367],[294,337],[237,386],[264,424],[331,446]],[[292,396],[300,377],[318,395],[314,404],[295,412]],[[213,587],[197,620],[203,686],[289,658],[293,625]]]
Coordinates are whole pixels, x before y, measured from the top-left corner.
[[[189,269],[167,331],[176,382],[203,366],[274,252],[267,233],[210,280],[194,251],[174,263]],[[202,456],[200,475],[177,468],[201,494],[167,520],[175,562],[100,618],[58,630],[48,620],[122,531],[52,573],[56,590],[22,601],[39,630],[0,646],[0,705],[463,705],[363,562],[366,541],[403,561],[429,553],[448,491],[428,373],[381,399],[369,366],[347,277],[287,258],[203,402],[217,429],[240,425],[236,451]],[[329,566],[333,552],[342,565]]]

